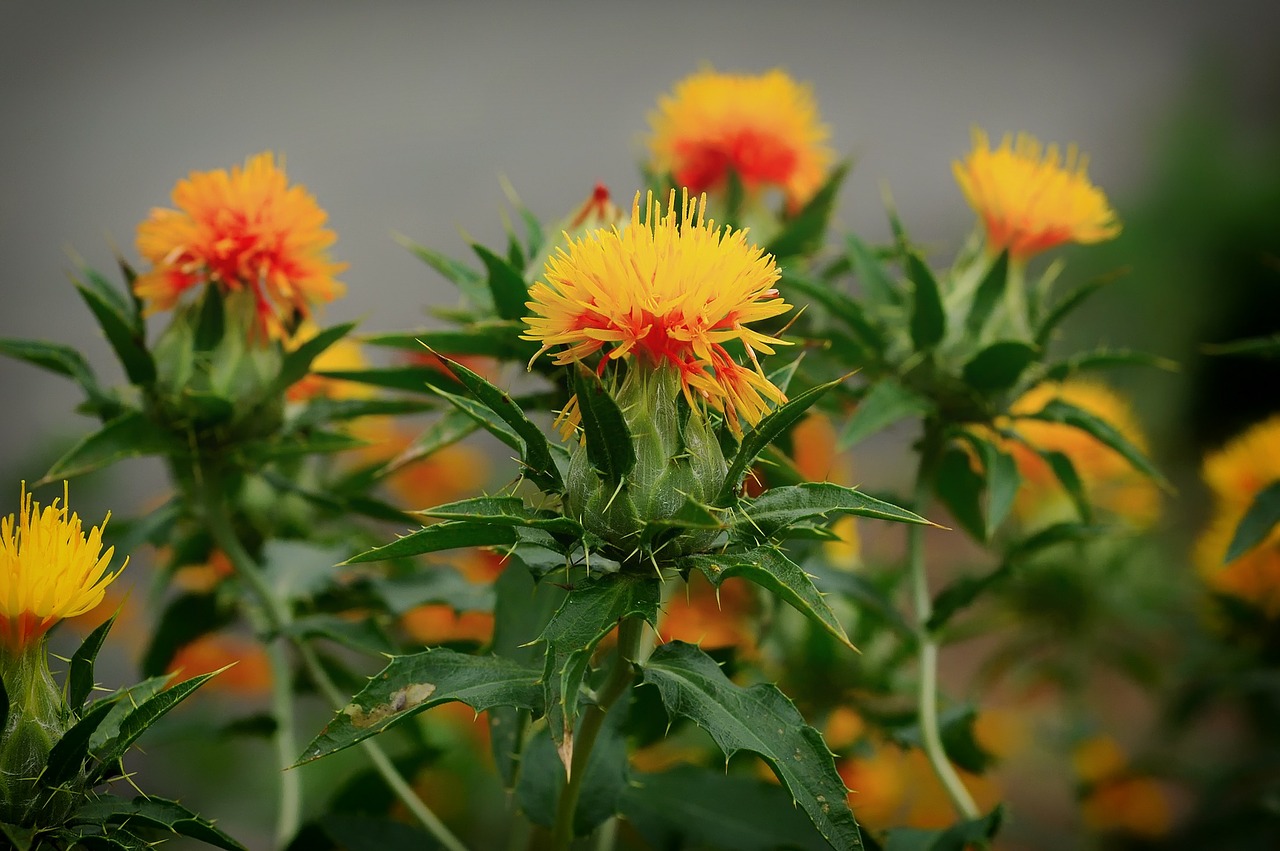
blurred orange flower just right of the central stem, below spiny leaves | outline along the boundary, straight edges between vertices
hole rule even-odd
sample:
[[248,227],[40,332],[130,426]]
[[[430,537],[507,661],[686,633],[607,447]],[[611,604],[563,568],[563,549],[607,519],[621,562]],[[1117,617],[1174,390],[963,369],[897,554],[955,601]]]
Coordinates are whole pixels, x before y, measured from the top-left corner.
[[687,641],[704,650],[737,648],[745,654],[755,653],[755,596],[745,580],[726,580],[717,593],[694,571],[686,591],[672,596],[658,621],[663,641]]

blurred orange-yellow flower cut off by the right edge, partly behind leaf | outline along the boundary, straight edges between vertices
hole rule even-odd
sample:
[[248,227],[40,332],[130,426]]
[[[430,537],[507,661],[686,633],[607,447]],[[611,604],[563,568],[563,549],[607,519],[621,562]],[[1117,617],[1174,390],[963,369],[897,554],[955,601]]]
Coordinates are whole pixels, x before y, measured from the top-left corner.
[[1224,564],[1235,529],[1254,498],[1280,481],[1280,416],[1252,426],[1211,453],[1203,475],[1213,494],[1215,513],[1196,544],[1201,577],[1215,591],[1252,603],[1267,617],[1280,617],[1280,527]]

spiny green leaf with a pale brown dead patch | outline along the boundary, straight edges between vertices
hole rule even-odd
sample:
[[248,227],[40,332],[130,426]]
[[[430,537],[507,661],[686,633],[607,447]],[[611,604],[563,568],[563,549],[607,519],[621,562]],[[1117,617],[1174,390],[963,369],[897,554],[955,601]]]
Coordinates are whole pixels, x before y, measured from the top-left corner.
[[390,663],[307,745],[298,765],[376,736],[420,712],[460,701],[477,713],[493,706],[543,710],[539,672],[498,659],[431,649]]

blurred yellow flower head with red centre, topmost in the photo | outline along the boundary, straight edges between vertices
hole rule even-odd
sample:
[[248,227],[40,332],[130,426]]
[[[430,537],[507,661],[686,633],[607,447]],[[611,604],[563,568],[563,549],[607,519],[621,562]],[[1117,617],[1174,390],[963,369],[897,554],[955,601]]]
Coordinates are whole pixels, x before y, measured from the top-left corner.
[[778,69],[698,72],[658,100],[649,124],[653,169],[690,192],[723,188],[733,169],[749,192],[777,187],[795,210],[835,160],[809,87]]

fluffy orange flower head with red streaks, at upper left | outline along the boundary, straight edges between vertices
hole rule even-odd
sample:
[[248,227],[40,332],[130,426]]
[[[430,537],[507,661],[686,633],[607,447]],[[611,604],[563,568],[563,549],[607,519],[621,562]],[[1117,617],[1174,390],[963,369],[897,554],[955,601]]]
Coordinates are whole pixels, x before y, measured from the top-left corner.
[[253,296],[259,331],[287,335],[294,312],[343,293],[329,260],[335,235],[305,187],[288,184],[271,154],[259,154],[228,174],[192,171],[173,189],[177,210],[154,209],[138,225],[137,246],[151,271],[133,288],[147,312],[169,310],[193,287],[212,284]]

